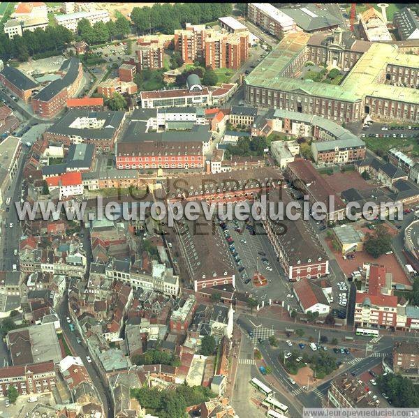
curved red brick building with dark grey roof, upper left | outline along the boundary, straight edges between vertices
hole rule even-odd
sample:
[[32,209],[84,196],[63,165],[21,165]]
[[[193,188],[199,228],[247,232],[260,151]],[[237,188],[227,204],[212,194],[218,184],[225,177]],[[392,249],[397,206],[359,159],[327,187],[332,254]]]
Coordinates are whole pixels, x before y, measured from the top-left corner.
[[83,66],[78,58],[71,58],[61,66],[65,75],[44,87],[32,99],[32,109],[39,116],[49,119],[66,107],[67,98],[74,96],[83,78]]

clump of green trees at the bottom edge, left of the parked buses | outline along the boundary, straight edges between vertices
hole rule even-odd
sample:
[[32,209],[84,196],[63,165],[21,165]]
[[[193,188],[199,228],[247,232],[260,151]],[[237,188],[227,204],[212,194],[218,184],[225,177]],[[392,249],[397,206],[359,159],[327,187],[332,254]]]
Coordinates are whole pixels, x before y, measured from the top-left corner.
[[175,390],[160,391],[157,388],[131,389],[135,397],[146,410],[152,410],[153,415],[163,418],[183,418],[186,408],[198,405],[214,398],[215,394],[207,387],[179,385]]

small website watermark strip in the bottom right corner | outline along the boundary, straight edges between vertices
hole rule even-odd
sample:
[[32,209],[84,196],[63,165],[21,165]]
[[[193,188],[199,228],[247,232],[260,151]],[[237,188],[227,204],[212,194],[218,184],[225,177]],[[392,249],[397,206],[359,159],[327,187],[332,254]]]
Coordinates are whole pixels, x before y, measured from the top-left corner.
[[419,408],[304,408],[302,417],[419,417]]

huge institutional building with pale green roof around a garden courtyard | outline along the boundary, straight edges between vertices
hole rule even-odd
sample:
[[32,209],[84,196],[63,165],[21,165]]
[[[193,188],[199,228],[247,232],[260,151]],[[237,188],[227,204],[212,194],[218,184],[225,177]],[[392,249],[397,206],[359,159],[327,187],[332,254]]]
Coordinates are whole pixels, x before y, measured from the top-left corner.
[[[246,100],[335,121],[419,120],[419,57],[398,45],[328,33],[289,33],[245,79]],[[297,80],[307,61],[347,71],[340,85]],[[362,80],[362,81],[361,81]]]

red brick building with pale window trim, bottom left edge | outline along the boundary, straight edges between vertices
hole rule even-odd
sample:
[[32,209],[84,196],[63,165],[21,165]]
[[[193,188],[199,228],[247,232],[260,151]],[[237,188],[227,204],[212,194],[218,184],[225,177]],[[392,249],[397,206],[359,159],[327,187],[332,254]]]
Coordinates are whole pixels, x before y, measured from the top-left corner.
[[6,396],[10,386],[14,386],[20,395],[52,391],[55,387],[54,362],[0,368],[0,396]]

